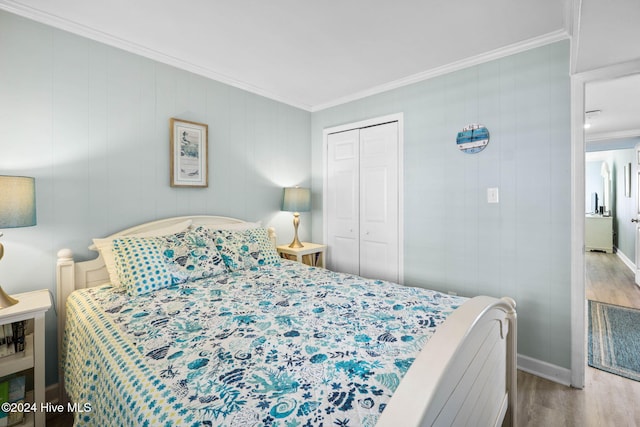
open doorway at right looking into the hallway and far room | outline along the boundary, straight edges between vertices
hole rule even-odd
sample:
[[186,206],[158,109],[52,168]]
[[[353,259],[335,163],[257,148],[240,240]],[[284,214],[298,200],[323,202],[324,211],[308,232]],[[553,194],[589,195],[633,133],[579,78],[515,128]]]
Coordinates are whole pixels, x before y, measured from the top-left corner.
[[[585,294],[590,301],[640,309],[635,277],[637,230],[633,222],[639,212],[638,96],[640,74],[585,85]],[[604,215],[598,212],[596,203]],[[597,226],[602,226],[601,230]],[[605,231],[608,239],[603,239]],[[586,331],[588,345],[588,326]],[[596,375],[610,387],[624,386],[623,378],[596,374],[595,368],[586,367],[589,383]]]

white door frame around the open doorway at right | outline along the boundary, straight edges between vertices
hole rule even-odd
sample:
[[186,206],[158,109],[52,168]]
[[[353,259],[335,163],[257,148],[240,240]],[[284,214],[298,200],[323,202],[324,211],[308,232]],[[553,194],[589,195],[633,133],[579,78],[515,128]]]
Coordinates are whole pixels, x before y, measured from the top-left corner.
[[586,368],[585,293],[585,86],[640,72],[640,60],[571,76],[571,385],[584,388]]

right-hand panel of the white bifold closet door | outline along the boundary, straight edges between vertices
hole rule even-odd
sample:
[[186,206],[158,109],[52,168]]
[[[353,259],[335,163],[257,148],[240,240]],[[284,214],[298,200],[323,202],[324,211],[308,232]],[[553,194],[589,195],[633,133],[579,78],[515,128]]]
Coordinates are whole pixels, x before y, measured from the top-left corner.
[[398,281],[398,123],[360,130],[360,275]]

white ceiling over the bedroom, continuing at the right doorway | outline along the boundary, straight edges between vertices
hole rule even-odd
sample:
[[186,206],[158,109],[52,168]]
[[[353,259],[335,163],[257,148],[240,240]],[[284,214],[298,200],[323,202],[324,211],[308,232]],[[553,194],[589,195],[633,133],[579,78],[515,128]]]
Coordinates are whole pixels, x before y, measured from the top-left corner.
[[[574,72],[640,58],[638,0],[0,0],[0,9],[308,111],[571,35]],[[614,109],[602,109],[604,122]]]

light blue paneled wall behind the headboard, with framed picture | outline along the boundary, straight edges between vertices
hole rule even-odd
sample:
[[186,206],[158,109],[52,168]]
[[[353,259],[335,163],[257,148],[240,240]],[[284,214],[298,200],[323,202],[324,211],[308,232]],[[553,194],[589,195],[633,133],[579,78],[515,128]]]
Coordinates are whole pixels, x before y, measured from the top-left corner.
[[[209,187],[169,187],[169,118],[209,126]],[[50,289],[56,252],[175,215],[276,225],[283,186],[310,184],[302,111],[0,11],[0,174],[36,177],[38,225],[4,231],[0,284]],[[309,216],[310,217],[310,216]],[[308,221],[310,223],[310,221]],[[310,230],[301,225],[301,238]],[[306,236],[306,237],[305,237]],[[47,383],[57,382],[47,314]]]

